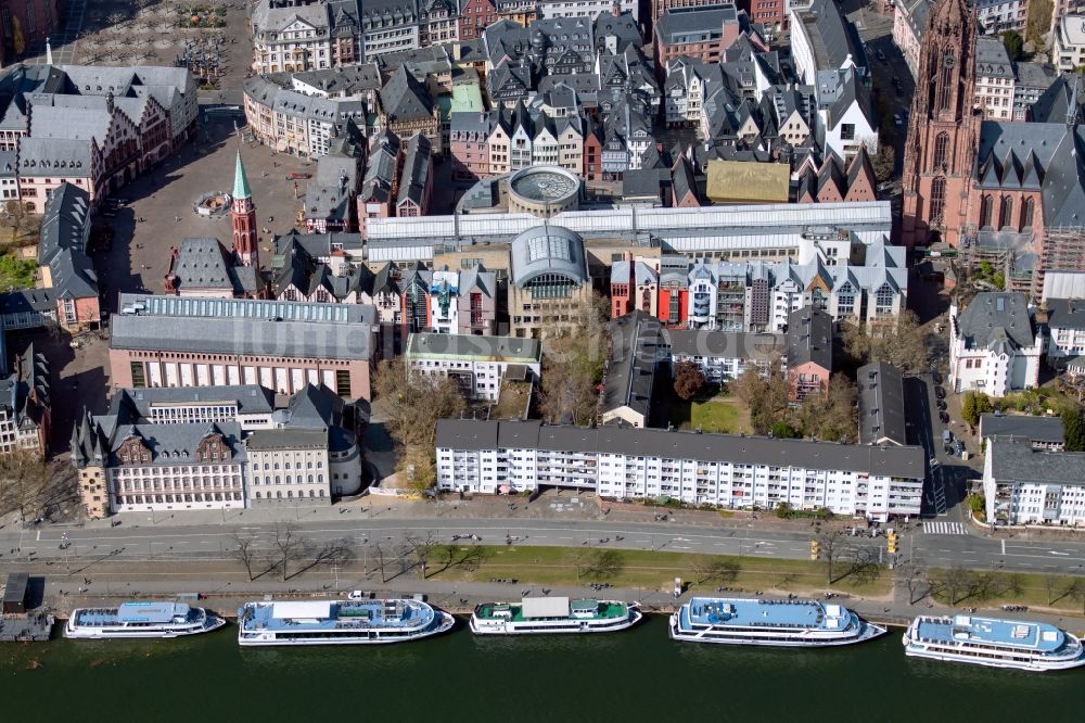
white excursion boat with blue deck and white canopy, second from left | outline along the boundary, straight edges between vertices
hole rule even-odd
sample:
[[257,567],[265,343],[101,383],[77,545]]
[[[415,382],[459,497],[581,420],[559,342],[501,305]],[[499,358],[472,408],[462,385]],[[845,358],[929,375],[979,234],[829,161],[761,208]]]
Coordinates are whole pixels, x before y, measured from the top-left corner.
[[238,610],[239,645],[373,645],[451,630],[455,619],[422,600],[275,600]]

